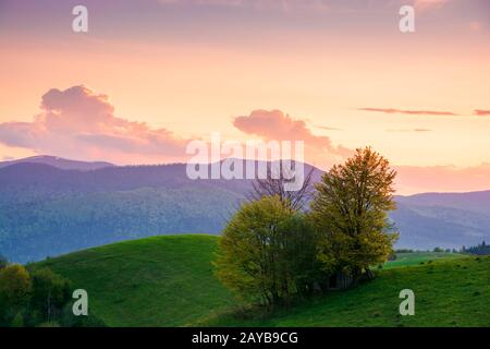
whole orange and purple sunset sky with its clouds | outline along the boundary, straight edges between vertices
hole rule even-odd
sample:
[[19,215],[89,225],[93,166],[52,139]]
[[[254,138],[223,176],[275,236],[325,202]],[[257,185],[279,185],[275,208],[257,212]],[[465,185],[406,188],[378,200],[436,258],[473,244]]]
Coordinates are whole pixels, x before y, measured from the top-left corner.
[[0,160],[185,161],[219,132],[323,169],[372,146],[401,193],[483,190],[489,86],[486,0],[0,0]]

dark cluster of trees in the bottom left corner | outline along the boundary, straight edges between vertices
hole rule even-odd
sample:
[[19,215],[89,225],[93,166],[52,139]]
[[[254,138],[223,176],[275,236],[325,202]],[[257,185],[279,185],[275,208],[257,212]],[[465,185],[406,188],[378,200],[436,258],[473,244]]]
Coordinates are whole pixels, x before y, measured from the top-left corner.
[[69,280],[49,268],[28,273],[0,258],[0,326],[58,325],[71,300]]

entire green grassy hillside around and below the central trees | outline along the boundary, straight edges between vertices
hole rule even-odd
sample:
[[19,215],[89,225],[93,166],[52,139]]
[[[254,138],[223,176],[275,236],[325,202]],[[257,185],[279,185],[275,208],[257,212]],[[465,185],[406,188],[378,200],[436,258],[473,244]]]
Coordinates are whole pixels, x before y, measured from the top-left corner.
[[[29,267],[48,266],[86,289],[89,311],[109,326],[490,326],[490,256],[401,255],[355,289],[244,315],[212,274],[218,239],[155,237]],[[404,288],[415,292],[415,316],[399,314]]]

